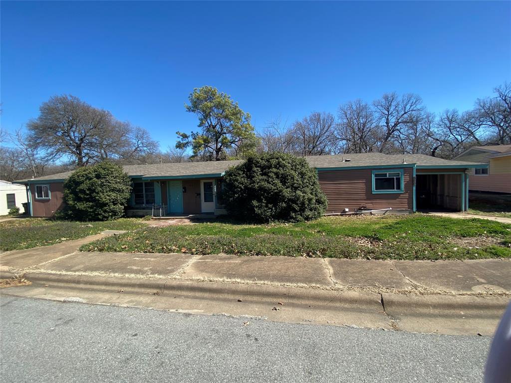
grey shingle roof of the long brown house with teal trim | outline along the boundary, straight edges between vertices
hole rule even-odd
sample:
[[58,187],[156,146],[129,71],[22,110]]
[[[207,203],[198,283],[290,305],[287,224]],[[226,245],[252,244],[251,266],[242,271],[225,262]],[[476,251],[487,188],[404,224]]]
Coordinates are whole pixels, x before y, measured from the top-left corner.
[[[309,156],[307,161],[312,167],[318,169],[328,169],[331,167],[357,167],[357,166],[379,166],[392,165],[402,166],[403,164],[416,164],[417,166],[456,166],[471,167],[480,165],[476,162],[452,161],[442,158],[426,156],[424,154],[382,154],[382,153],[360,153],[360,154],[336,154],[329,156]],[[229,167],[240,164],[241,160],[236,161],[207,161],[207,162],[181,162],[181,163],[161,163],[148,165],[125,165],[124,171],[129,176],[150,177],[186,177],[201,175],[220,175]],[[18,183],[30,181],[52,181],[64,180],[73,172],[64,172],[52,174],[50,176],[38,177],[35,179],[19,180]]]

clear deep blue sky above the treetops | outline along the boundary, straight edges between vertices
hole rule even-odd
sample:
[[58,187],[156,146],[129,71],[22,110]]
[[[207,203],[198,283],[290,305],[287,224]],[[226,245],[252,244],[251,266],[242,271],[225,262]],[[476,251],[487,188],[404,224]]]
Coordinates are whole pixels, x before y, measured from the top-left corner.
[[511,80],[511,2],[1,2],[2,126],[71,93],[148,129],[196,128],[212,85],[261,128],[384,92],[466,110]]

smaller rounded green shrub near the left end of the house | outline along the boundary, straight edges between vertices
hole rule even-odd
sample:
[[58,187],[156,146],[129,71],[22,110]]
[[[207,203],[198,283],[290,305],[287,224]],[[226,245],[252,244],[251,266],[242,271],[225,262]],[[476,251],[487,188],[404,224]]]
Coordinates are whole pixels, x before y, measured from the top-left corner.
[[124,215],[131,181],[122,167],[110,162],[85,166],[64,182],[65,216],[79,221],[107,221]]

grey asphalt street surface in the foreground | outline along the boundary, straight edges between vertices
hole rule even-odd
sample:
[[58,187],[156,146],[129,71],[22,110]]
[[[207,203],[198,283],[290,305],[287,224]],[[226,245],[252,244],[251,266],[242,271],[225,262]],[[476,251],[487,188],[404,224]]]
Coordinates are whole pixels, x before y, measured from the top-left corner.
[[0,297],[7,382],[480,382],[491,338]]

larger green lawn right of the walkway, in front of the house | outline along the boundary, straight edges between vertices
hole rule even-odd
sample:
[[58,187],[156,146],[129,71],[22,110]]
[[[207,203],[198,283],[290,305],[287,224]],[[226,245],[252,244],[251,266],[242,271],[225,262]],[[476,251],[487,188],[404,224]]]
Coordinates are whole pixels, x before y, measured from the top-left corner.
[[324,217],[287,225],[202,223],[139,229],[84,245],[81,250],[370,259],[509,258],[511,225],[423,214]]

